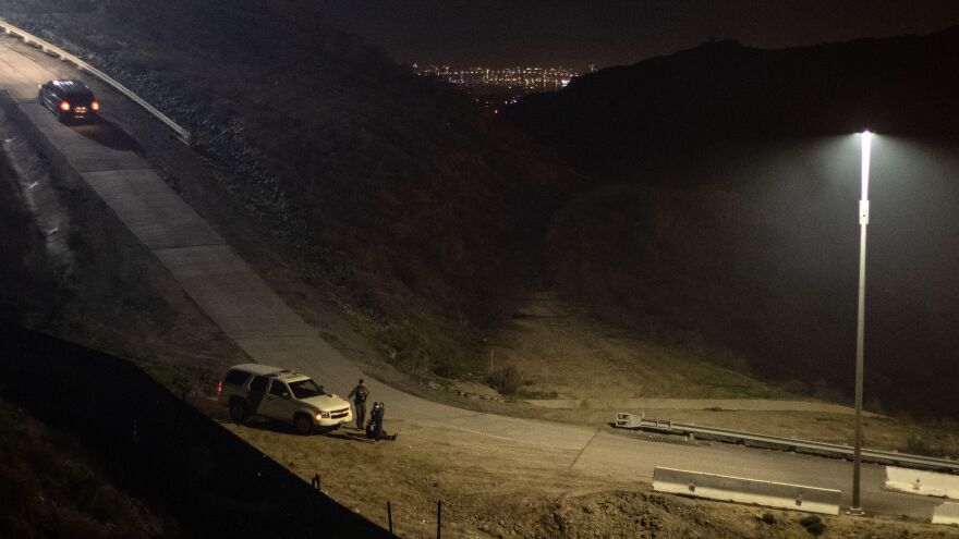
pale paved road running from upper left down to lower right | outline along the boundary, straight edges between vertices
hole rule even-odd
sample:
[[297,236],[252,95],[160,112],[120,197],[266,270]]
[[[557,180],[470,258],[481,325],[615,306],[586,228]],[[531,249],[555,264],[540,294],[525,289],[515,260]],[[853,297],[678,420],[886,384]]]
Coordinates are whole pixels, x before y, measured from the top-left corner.
[[[289,308],[223,238],[181,199],[149,164],[97,130],[71,127],[34,101],[36,85],[64,74],[54,61],[32,60],[20,45],[0,46],[0,88],[82,177],[157,257],[183,290],[258,363],[293,367],[347,393],[363,376],[317,331]],[[43,64],[43,65],[41,65]],[[68,72],[69,73],[69,72]],[[119,95],[99,96],[106,108]],[[109,125],[102,126],[109,128]],[[162,128],[158,126],[158,128]],[[367,377],[368,379],[368,377]],[[655,466],[752,477],[848,490],[848,463],[744,448],[654,443],[561,424],[501,417],[454,408],[402,393],[371,380],[371,392],[389,403],[390,416],[427,427],[473,433],[482,443],[539,449],[544,457],[566,458],[568,468],[597,476],[650,481]],[[559,456],[557,456],[559,455]],[[864,467],[863,504],[867,511],[930,518],[933,503],[881,490],[883,468]],[[849,495],[845,494],[849,503]]]

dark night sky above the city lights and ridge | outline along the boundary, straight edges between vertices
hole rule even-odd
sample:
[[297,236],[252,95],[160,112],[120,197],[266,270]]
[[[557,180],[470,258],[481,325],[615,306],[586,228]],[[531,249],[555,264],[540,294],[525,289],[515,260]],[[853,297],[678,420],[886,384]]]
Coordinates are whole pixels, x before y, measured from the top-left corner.
[[598,69],[709,38],[781,48],[959,24],[955,0],[319,0],[317,7],[406,64]]

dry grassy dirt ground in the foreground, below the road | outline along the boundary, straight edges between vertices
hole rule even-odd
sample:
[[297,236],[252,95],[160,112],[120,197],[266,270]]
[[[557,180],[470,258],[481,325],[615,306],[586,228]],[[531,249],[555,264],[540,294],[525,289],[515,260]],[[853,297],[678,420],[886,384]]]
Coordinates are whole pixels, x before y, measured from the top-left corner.
[[[444,503],[444,537],[810,537],[799,522],[803,513],[664,495],[631,477],[568,469],[571,456],[559,450],[503,444],[469,432],[398,421],[388,426],[399,430],[397,442],[372,444],[349,430],[304,439],[226,427],[303,480],[321,471],[325,492],[381,526],[391,502],[400,537],[436,537],[437,500]],[[332,461],[340,466],[327,466]],[[369,465],[379,462],[389,465]],[[763,520],[765,513],[772,518]],[[948,527],[894,517],[838,516],[823,523],[826,537],[959,537]]]

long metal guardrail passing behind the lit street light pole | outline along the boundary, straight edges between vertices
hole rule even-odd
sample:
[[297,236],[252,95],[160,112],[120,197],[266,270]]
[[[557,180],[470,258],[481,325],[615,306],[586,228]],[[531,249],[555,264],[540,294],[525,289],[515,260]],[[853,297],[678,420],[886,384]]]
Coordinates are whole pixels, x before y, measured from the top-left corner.
[[[741,430],[730,430],[716,427],[699,427],[660,419],[646,419],[635,414],[616,414],[616,427],[627,429],[653,430],[670,434],[699,437],[723,442],[757,445],[796,453],[809,453],[839,458],[852,458],[853,448],[838,443],[814,442],[811,440],[797,440],[792,438],[779,438],[774,436],[756,434]],[[903,467],[945,470],[959,474],[959,461],[954,458],[936,458],[931,456],[911,455],[895,451],[878,451],[871,449],[862,450],[862,460],[876,464],[894,464]]]

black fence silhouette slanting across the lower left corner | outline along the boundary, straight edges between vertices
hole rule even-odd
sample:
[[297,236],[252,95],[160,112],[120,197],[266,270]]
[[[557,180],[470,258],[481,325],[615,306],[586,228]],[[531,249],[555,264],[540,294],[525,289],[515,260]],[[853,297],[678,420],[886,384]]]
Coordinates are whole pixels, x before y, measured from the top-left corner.
[[185,537],[394,537],[318,492],[130,362],[0,321],[0,397],[73,436]]

